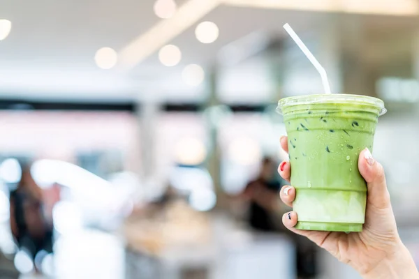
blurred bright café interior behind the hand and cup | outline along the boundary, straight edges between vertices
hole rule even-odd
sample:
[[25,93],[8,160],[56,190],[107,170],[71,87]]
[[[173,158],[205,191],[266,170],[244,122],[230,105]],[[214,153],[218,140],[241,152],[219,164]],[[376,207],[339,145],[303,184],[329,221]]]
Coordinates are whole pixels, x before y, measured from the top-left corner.
[[385,101],[419,263],[418,0],[0,0],[0,278],[359,278],[281,226],[276,104],[323,92],[286,22]]

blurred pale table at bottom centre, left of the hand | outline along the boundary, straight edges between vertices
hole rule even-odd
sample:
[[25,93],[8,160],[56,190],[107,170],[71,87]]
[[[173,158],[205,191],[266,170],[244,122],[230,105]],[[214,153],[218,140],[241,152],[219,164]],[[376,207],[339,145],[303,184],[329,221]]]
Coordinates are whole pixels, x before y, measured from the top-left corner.
[[126,278],[295,278],[295,250],[286,237],[253,234],[237,228],[225,216],[207,216],[209,237],[200,241],[168,243],[155,237],[149,243],[128,241]]

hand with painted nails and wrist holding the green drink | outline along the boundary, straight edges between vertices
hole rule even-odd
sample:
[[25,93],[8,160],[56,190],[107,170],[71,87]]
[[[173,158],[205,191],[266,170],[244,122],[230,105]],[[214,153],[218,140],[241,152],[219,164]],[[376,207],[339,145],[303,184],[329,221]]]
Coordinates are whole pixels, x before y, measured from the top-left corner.
[[[287,137],[281,137],[281,146],[288,152]],[[307,236],[340,262],[350,264],[364,278],[419,278],[413,259],[397,232],[383,167],[374,160],[369,150],[365,149],[360,153],[358,169],[367,181],[368,188],[362,232],[346,234],[295,229],[297,213],[293,211],[285,213],[282,222],[292,232]],[[282,162],[278,171],[282,178],[290,181],[289,162]],[[281,189],[281,200],[292,207],[294,199],[295,188],[284,186]]]

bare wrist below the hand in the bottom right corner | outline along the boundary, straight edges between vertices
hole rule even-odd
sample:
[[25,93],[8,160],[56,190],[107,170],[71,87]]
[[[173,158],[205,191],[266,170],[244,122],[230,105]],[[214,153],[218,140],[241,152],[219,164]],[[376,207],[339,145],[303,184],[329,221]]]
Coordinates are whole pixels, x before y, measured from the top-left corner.
[[402,242],[391,255],[387,255],[374,269],[365,273],[364,279],[419,279],[413,258]]

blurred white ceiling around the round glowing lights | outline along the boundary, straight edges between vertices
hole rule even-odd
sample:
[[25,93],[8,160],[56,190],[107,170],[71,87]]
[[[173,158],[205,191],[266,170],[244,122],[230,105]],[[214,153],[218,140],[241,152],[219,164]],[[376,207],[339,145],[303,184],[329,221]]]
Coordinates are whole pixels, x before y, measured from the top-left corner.
[[[178,5],[183,2],[177,1]],[[307,11],[219,6],[202,19],[219,26],[220,36],[215,43],[199,43],[193,32],[196,24],[168,42],[182,50],[178,66],[162,66],[154,53],[129,72],[97,68],[96,50],[112,47],[119,52],[159,22],[153,4],[153,0],[0,0],[0,18],[13,22],[8,38],[0,41],[0,97],[114,100],[170,94],[196,97],[203,86],[195,89],[183,84],[181,72],[186,64],[198,63],[207,68],[221,47],[249,33],[284,36],[281,27],[286,22],[296,30],[316,29],[329,16]],[[406,17],[362,18],[378,22],[381,28],[385,22],[403,28],[412,25],[412,18]]]

